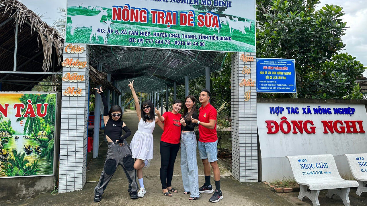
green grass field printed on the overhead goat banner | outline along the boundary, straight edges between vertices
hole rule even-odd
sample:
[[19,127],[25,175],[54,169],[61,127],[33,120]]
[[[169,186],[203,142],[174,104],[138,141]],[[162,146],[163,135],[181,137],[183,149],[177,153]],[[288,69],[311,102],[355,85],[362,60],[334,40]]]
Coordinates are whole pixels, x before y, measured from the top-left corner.
[[[110,19],[112,14],[112,10],[108,8],[108,18]],[[187,11],[186,11],[187,12]],[[77,8],[77,7],[68,7],[68,16],[73,15],[97,15],[99,11],[91,11],[85,8]],[[199,11],[195,11],[195,15],[197,16]],[[221,14],[220,14],[221,15]],[[102,16],[102,20],[105,20],[106,16]],[[149,14],[149,20],[152,19]],[[150,20],[151,21],[151,20]],[[149,22],[150,22],[149,21]],[[171,28],[167,28],[166,25],[158,25],[152,23],[131,23],[131,22],[119,22],[115,21],[114,24],[111,25],[112,29],[121,30],[135,30],[135,31],[149,31],[149,32],[166,32],[166,33],[177,33],[177,34],[193,34],[196,35],[197,39],[184,39],[184,38],[162,38],[162,37],[145,37],[145,36],[130,36],[124,34],[110,34],[108,38],[108,45],[126,45],[126,46],[134,46],[134,47],[159,47],[159,48],[178,48],[178,49],[207,49],[207,50],[218,50],[218,51],[243,51],[243,52],[254,52],[255,51],[255,23],[252,21],[251,30],[246,29],[246,34],[242,34],[238,30],[234,30],[232,33],[229,33],[229,26],[222,25],[221,31],[218,34],[217,30],[209,31],[206,27],[188,27],[188,26],[172,26]],[[178,19],[179,22],[179,19]],[[77,27],[75,29],[74,35],[70,34],[71,30],[71,19],[67,18],[67,26],[66,26],[66,42],[72,43],[87,43],[87,44],[103,44],[103,38],[99,37],[98,41],[95,37],[92,37],[92,40],[89,41],[91,28]],[[221,40],[199,40],[199,35],[215,35],[219,36],[229,36],[232,38],[231,41],[221,41]],[[153,39],[153,43],[131,43],[129,42],[129,38],[144,38],[144,39]],[[164,40],[164,44],[156,43],[156,40]],[[170,40],[170,44],[166,44],[165,40]],[[174,45],[174,41],[191,41],[194,42],[204,42],[205,47],[201,47],[200,45]]]

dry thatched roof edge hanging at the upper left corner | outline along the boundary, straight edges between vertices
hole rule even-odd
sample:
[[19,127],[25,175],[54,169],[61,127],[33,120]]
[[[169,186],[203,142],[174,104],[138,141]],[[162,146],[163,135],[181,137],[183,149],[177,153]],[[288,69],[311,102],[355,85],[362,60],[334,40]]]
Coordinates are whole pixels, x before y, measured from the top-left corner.
[[62,61],[63,38],[61,34],[56,29],[43,22],[36,13],[28,9],[20,1],[1,0],[0,15],[2,16],[1,19],[14,17],[12,20],[14,26],[18,21],[20,29],[22,29],[25,24],[30,24],[30,32],[38,33],[38,40],[41,40],[43,46],[43,71],[48,71],[52,65],[52,46],[56,48],[57,62]]

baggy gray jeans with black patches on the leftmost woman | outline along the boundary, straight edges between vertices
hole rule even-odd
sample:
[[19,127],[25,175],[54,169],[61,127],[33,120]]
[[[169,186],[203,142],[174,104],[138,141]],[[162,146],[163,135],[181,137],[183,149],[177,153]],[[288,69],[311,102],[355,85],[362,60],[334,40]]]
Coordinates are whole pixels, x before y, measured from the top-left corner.
[[132,192],[138,190],[134,159],[132,159],[131,150],[126,140],[124,144],[125,145],[122,147],[120,147],[119,144],[108,145],[105,166],[101,173],[101,177],[99,177],[98,184],[94,188],[94,192],[103,194],[103,190],[106,189],[108,182],[111,180],[119,165],[123,168],[127,180],[129,181],[129,189],[127,191]]

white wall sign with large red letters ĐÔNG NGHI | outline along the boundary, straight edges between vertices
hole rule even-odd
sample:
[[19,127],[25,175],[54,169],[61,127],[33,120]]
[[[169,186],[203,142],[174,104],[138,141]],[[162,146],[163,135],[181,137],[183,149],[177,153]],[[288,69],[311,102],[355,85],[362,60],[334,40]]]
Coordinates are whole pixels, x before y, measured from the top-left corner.
[[339,169],[341,155],[367,153],[364,104],[259,102],[257,111],[262,181],[292,177],[286,155],[332,154]]

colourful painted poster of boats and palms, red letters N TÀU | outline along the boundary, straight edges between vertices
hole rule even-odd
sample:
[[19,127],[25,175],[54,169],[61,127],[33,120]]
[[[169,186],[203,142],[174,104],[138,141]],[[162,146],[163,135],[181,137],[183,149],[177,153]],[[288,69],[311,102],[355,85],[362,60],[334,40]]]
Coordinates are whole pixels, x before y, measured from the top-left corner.
[[0,177],[54,173],[56,93],[0,93]]

